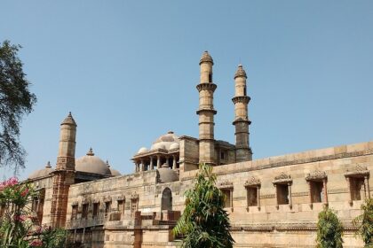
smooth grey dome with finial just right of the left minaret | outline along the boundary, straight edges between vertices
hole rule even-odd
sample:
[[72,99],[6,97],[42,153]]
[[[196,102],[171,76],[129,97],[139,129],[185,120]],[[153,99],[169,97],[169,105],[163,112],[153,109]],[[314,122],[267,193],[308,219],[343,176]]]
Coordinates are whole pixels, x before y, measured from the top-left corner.
[[92,149],[87,152],[87,155],[75,160],[75,170],[94,174],[111,174],[107,164],[94,156]]

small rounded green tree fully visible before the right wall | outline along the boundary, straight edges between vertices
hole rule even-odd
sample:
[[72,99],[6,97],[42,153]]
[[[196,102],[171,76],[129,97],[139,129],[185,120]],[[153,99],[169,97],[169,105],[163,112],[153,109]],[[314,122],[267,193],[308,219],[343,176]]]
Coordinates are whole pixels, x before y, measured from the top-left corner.
[[317,247],[318,248],[342,248],[343,247],[343,226],[337,214],[324,207],[319,213],[317,222]]

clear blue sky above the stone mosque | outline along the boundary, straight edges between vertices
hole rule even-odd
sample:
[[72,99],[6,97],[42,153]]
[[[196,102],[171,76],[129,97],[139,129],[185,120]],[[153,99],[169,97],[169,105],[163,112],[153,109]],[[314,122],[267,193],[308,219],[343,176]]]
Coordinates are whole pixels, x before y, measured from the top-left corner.
[[246,69],[254,159],[373,138],[373,1],[3,0],[5,39],[23,46],[38,98],[22,122],[20,178],[55,165],[69,111],[76,158],[92,146],[122,173],[168,130],[198,136],[203,50],[217,139],[234,143],[233,76]]

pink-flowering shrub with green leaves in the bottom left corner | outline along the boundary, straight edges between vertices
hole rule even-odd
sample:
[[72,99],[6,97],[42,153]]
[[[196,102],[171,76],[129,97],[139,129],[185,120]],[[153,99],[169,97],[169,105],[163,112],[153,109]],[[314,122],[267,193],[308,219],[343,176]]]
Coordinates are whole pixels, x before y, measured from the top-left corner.
[[28,205],[37,191],[16,177],[0,182],[0,247],[63,247],[67,232],[42,227]]

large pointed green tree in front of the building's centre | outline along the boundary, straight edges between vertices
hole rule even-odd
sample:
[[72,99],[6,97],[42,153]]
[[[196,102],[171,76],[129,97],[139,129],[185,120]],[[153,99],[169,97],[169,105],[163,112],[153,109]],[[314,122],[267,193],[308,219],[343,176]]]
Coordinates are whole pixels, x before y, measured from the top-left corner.
[[183,248],[230,248],[234,239],[229,218],[223,209],[225,195],[215,186],[212,167],[200,165],[194,187],[187,190],[186,208],[176,227],[175,236],[184,236]]

